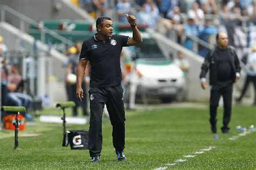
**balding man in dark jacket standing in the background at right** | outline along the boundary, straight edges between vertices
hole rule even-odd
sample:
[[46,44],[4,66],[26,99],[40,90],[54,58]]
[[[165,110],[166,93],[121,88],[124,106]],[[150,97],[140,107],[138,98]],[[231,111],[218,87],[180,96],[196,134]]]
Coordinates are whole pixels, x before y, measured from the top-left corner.
[[233,83],[240,77],[240,63],[234,48],[228,46],[228,37],[225,33],[218,33],[216,36],[218,46],[210,51],[201,67],[201,87],[205,89],[206,73],[210,68],[210,123],[213,133],[217,133],[216,115],[220,96],[224,101],[223,127],[221,131],[228,133],[228,123],[230,123]]

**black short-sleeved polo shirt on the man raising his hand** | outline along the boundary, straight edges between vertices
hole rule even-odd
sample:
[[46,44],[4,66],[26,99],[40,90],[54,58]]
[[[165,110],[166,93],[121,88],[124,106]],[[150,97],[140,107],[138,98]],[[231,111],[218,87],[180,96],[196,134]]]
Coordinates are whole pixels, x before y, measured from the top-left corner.
[[111,87],[121,83],[120,54],[129,41],[130,37],[114,34],[104,43],[95,34],[83,42],[79,60],[90,62],[90,87]]

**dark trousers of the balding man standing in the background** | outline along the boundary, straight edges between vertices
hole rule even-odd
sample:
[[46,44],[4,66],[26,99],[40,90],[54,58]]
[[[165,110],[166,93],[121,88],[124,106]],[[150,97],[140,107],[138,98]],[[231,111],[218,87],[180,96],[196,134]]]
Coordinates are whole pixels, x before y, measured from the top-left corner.
[[232,92],[233,83],[216,83],[212,86],[211,96],[210,96],[210,123],[215,125],[217,122],[217,108],[219,106],[220,96],[223,96],[224,102],[224,115],[223,115],[223,127],[228,129],[228,123],[230,123],[231,118],[231,108],[232,108]]

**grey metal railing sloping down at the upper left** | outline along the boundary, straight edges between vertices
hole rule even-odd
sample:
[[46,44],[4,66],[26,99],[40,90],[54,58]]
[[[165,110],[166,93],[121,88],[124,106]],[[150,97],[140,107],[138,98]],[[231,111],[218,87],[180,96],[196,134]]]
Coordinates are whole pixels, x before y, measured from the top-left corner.
[[[17,17],[20,20],[20,28],[19,29],[21,29],[21,31],[23,31],[23,32],[25,32],[25,23],[29,24],[29,25],[33,25],[35,27],[39,26],[38,22],[29,18],[28,16],[23,15],[21,12],[18,12],[16,10],[10,8],[9,6],[1,5],[0,9],[1,9],[1,22],[5,22],[5,18],[6,18],[5,15],[6,15],[7,12],[9,12],[10,14],[14,15],[15,17]],[[55,31],[49,30],[44,26],[40,26],[38,28],[38,30],[41,31],[41,41],[44,42],[44,43],[45,43],[46,34],[49,34],[50,36],[52,36],[53,38],[58,39],[59,41],[61,41],[63,44],[65,44],[67,46],[75,45],[71,40],[66,39],[63,36],[60,36]]]

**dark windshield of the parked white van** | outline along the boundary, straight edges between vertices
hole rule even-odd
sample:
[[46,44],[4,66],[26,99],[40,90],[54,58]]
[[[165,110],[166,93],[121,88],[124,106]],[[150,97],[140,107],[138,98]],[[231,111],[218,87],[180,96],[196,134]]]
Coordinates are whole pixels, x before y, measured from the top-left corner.
[[154,39],[144,39],[135,47],[138,59],[146,60],[167,60]]

